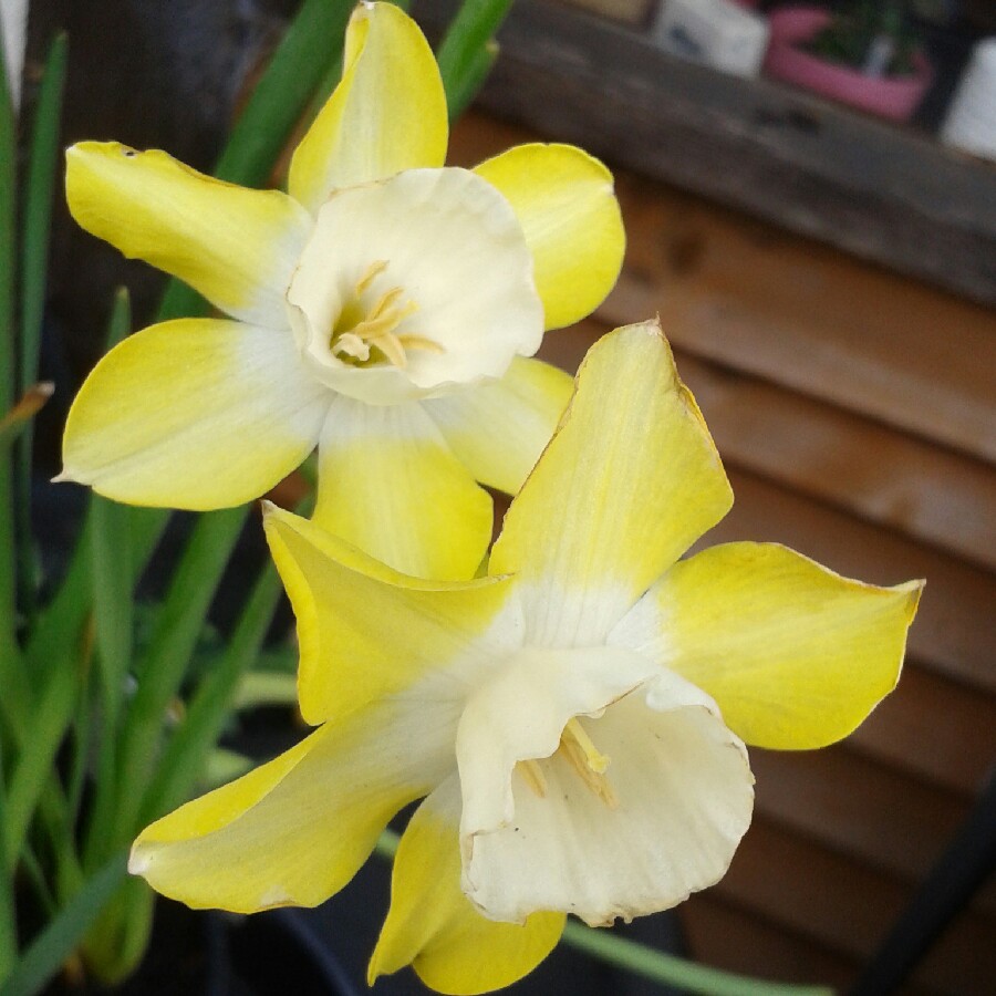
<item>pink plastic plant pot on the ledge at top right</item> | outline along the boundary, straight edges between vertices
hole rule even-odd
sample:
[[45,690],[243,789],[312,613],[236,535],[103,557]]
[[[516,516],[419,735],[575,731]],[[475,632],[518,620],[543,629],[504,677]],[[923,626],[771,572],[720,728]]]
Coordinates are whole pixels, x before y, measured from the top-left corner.
[[771,40],[765,56],[765,73],[880,117],[909,121],[934,77],[926,56],[922,52],[914,55],[912,75],[881,77],[823,62],[797,48],[829,20],[826,10],[815,7],[775,11],[770,17]]

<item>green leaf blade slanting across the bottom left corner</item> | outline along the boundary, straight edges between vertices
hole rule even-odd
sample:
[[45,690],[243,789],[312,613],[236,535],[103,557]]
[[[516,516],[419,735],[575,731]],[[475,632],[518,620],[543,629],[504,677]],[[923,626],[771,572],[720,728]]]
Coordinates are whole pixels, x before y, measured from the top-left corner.
[[80,940],[125,878],[127,855],[116,854],[63,907],[0,985],[0,996],[39,993],[76,950]]

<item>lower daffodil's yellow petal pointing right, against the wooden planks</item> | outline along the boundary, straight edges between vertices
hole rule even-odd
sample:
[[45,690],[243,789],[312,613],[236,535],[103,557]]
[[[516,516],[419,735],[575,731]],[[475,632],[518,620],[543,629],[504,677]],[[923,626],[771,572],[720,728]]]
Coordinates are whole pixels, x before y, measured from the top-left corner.
[[774,543],[728,543],[675,564],[611,639],[705,689],[748,744],[824,747],[895,687],[922,588],[876,588]]

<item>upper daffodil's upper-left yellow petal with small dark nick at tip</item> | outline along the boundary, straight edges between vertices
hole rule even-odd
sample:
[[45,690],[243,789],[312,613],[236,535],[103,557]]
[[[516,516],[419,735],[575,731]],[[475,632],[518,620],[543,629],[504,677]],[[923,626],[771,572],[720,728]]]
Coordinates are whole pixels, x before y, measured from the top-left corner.
[[204,176],[166,153],[83,142],[66,153],[70,211],[128,258],[186,280],[234,318],[280,329],[312,221],[279,190]]

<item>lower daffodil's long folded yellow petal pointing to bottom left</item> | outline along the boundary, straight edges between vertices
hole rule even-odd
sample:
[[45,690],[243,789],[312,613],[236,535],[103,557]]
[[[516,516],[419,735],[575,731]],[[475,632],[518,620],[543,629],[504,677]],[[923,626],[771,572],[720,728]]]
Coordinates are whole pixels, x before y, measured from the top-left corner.
[[326,724],[146,828],[129,870],[194,907],[314,906],[352,879],[387,820],[452,768],[437,719],[432,708],[386,703]]

